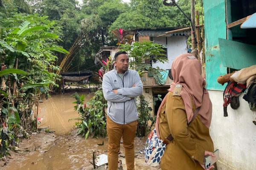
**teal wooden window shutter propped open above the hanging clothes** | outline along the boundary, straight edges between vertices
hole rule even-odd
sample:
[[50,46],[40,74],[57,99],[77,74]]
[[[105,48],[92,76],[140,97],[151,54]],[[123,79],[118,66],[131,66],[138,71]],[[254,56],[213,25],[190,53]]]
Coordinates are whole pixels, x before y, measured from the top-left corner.
[[256,46],[219,38],[221,62],[224,67],[242,69],[256,65]]

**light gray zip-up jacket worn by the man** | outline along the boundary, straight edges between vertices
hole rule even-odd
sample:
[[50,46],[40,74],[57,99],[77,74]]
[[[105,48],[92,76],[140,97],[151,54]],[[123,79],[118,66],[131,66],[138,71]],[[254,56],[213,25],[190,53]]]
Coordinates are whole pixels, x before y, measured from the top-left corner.
[[[136,87],[133,87],[136,85]],[[143,84],[137,71],[127,70],[122,78],[116,68],[104,74],[103,95],[108,101],[108,116],[118,124],[128,124],[138,119],[136,99],[143,91]],[[113,92],[118,89],[118,94]]]

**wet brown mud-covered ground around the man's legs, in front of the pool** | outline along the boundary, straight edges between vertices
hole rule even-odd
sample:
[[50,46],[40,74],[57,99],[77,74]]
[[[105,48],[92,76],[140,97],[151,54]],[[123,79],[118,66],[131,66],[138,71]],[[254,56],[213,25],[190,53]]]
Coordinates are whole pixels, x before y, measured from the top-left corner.
[[[102,144],[104,141],[104,145]],[[143,155],[145,138],[135,139],[135,169],[154,170],[145,164]],[[92,153],[108,154],[108,139],[87,139],[76,135],[73,130],[69,135],[53,133],[33,134],[30,139],[23,139],[18,150],[11,151],[11,157],[0,161],[0,170],[92,170]],[[120,169],[125,170],[124,148],[120,148]],[[107,166],[106,166],[107,167]]]

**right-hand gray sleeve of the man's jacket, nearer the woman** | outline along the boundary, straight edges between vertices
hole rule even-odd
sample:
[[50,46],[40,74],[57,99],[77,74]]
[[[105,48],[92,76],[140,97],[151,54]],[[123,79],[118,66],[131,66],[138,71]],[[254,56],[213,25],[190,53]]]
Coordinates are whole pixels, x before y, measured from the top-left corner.
[[118,94],[121,94],[122,96],[128,96],[131,98],[135,98],[142,94],[143,84],[141,82],[140,75],[138,74],[137,71],[133,78],[134,78],[134,84],[136,85],[136,87],[118,89]]

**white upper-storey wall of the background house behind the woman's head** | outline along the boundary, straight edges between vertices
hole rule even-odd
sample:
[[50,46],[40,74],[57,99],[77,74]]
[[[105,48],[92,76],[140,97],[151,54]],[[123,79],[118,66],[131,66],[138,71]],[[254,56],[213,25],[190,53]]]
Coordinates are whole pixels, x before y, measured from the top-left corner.
[[[166,44],[166,37],[161,37],[162,39],[155,40],[155,42],[160,42],[160,44]],[[155,38],[153,37],[153,40]],[[157,62],[153,63],[152,67],[156,68],[157,66],[162,69],[170,69],[172,61],[180,54],[187,53],[187,37],[186,36],[172,36],[167,37],[167,57],[168,62]]]

